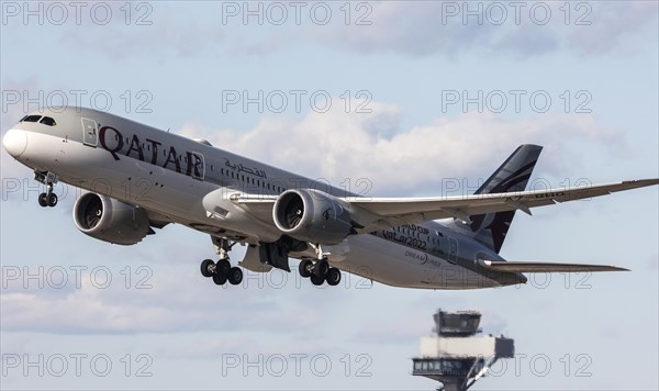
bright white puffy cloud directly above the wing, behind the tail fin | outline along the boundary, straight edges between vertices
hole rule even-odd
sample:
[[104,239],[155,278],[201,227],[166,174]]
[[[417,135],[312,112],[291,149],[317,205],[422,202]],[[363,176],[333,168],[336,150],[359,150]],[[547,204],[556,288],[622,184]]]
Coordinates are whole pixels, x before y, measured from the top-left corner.
[[247,132],[188,124],[179,133],[337,187],[346,179],[355,187],[367,178],[373,185],[368,196],[437,194],[443,179],[484,179],[526,143],[547,147],[540,160],[545,175],[579,164],[582,150],[573,150],[574,143],[588,142],[618,156],[626,150],[623,133],[602,129],[590,114],[547,113],[512,122],[469,113],[402,129],[400,108],[380,102],[370,107],[370,114],[332,108],[297,122],[264,118]]

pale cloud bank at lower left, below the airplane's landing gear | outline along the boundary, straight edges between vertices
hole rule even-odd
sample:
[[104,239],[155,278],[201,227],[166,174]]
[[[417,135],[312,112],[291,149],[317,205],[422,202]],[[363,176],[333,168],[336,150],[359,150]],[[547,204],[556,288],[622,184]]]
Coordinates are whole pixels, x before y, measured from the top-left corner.
[[[156,272],[147,280],[149,289],[135,289],[136,279],[142,277],[136,273],[132,281],[135,283],[126,288],[125,275],[111,266],[108,270],[111,270],[112,279],[108,283],[107,273],[97,273],[94,278],[86,270],[78,280],[79,288],[59,290],[45,286],[37,289],[31,283],[31,289],[3,289],[0,324],[3,332],[53,334],[287,333],[298,327],[313,329],[323,320],[321,310],[299,311],[290,300],[280,300],[288,294],[303,293],[300,290],[268,286],[258,289],[254,283],[220,288],[199,276],[198,267],[189,266],[154,267]],[[68,283],[74,286],[76,282],[69,280]],[[306,288],[312,289],[303,289]]]

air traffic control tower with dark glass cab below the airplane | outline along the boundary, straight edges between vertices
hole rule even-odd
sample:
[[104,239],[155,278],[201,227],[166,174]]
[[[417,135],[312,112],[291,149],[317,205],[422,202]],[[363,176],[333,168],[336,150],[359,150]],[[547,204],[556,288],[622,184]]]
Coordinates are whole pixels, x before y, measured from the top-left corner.
[[421,355],[412,358],[412,375],[440,381],[439,391],[463,391],[485,376],[500,358],[513,358],[514,340],[503,335],[477,335],[481,314],[476,311],[433,315],[436,336],[421,339]]

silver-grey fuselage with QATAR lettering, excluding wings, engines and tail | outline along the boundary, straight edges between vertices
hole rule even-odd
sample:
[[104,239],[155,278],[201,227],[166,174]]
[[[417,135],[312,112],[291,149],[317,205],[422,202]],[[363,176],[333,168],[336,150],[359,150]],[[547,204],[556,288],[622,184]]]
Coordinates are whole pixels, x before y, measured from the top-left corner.
[[[327,193],[349,196],[326,183],[108,113],[67,109],[46,114],[56,120],[56,126],[21,122],[5,135],[5,149],[19,161],[35,171],[56,174],[63,182],[139,205],[161,220],[211,235],[250,244],[275,242],[281,236],[271,217],[252,215],[230,200],[233,193],[277,196],[292,187],[317,186]],[[416,228],[420,226],[423,230]],[[439,236],[455,243],[450,252],[443,248]],[[462,250],[462,245],[469,250]],[[398,233],[394,228],[348,236],[328,249],[328,260],[344,271],[398,287],[474,289],[509,284],[479,272],[477,267],[465,267],[466,262],[476,265],[469,259],[474,247],[492,253],[447,225],[431,222],[399,227]]]

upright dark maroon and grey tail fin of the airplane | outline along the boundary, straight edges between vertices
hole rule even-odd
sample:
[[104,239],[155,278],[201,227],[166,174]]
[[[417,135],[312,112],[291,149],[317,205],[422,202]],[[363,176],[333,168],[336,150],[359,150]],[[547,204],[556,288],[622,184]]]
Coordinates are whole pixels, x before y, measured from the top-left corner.
[[[539,145],[521,145],[474,194],[524,191],[541,150]],[[515,211],[478,214],[469,216],[471,224],[456,225],[470,227],[473,238],[499,253],[514,216]]]

